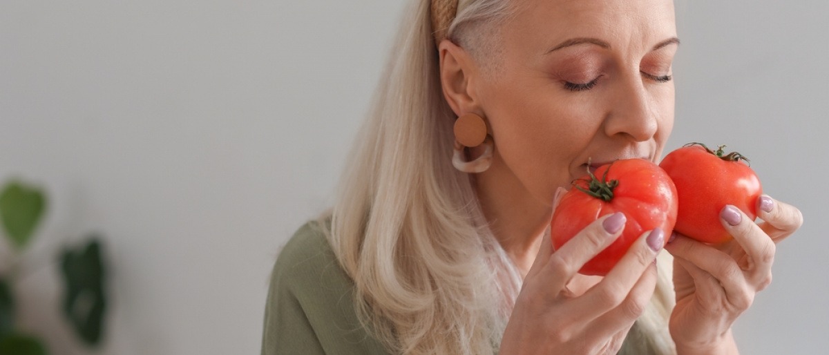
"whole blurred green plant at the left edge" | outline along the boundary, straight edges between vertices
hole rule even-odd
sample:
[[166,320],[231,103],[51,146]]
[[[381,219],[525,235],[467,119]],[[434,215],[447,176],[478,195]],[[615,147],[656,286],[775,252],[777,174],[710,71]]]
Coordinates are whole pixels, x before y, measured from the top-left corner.
[[[15,326],[14,284],[20,273],[22,251],[46,211],[46,194],[38,187],[12,180],[0,190],[0,221],[11,243],[11,265],[0,275],[0,355],[46,355],[40,338]],[[85,244],[66,247],[56,255],[61,267],[64,294],[62,309],[75,334],[88,346],[100,343],[106,311],[105,270],[98,236]]]

